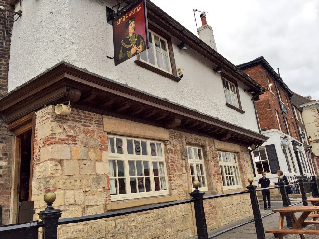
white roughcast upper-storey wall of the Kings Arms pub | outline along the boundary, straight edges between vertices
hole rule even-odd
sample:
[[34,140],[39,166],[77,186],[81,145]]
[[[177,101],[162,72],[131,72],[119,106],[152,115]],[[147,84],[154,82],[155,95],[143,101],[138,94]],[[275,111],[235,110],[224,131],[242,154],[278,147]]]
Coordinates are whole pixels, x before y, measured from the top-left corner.
[[[108,6],[112,7],[115,2]],[[221,76],[213,64],[192,49],[183,51],[173,38],[176,66],[185,69],[175,82],[130,59],[117,67],[106,56],[113,53],[112,26],[106,23],[106,5],[92,0],[23,2],[23,16],[15,22],[11,39],[9,91],[66,61],[100,76],[166,98],[177,104],[258,131],[251,94],[238,82],[241,114],[226,107]],[[165,9],[164,9],[165,10]]]

